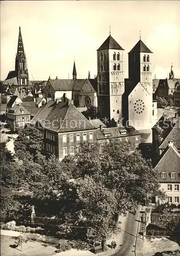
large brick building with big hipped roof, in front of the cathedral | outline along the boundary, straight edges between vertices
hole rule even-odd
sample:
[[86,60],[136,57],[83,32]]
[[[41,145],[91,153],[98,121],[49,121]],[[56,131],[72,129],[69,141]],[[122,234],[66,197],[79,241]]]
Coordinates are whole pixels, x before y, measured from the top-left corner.
[[96,127],[73,105],[48,101],[30,121],[43,134],[43,151],[60,160],[78,152],[81,142],[96,141]]

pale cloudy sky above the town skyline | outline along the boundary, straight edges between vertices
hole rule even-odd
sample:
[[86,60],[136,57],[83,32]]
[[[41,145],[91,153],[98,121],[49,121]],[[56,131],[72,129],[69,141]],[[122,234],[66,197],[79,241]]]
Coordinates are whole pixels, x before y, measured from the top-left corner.
[[128,52],[141,39],[153,52],[153,78],[166,78],[173,63],[180,78],[179,1],[1,1],[1,80],[14,70],[19,26],[29,79],[97,74],[96,50],[111,35]]

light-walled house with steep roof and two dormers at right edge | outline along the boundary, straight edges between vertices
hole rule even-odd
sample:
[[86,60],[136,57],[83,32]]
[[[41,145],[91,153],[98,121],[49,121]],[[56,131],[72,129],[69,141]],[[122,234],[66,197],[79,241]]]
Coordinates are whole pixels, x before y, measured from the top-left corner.
[[[173,142],[169,142],[160,161],[155,166],[155,170],[158,172],[161,188],[167,195],[165,201],[178,205],[180,200],[180,154]],[[156,198],[156,203],[159,204],[158,198]]]

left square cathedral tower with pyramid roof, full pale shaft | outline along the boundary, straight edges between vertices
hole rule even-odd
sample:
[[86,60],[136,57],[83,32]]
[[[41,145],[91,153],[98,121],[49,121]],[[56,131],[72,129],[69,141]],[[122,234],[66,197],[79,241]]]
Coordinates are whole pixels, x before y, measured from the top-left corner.
[[111,33],[97,50],[98,109],[101,117],[114,118],[116,122],[122,118],[123,51]]

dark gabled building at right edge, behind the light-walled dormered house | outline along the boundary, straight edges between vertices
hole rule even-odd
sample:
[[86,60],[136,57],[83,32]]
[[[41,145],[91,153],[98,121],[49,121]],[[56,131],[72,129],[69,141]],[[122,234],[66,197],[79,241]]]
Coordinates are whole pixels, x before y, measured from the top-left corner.
[[157,164],[169,141],[173,141],[177,150],[180,150],[180,126],[177,113],[173,118],[163,113],[163,116],[152,127],[153,164]]

